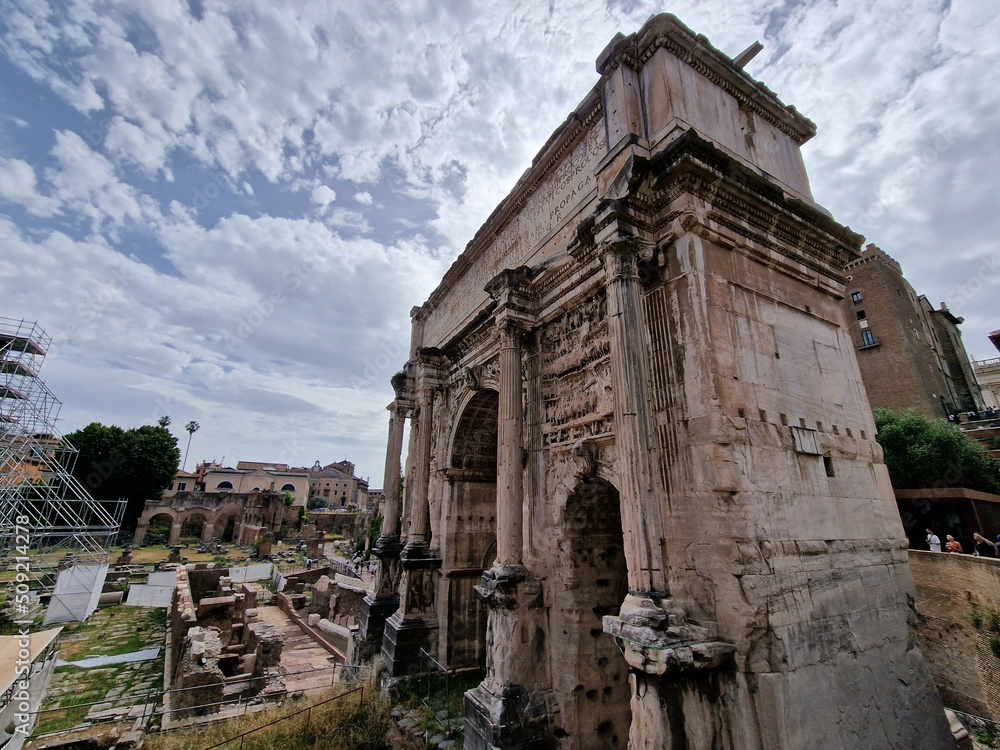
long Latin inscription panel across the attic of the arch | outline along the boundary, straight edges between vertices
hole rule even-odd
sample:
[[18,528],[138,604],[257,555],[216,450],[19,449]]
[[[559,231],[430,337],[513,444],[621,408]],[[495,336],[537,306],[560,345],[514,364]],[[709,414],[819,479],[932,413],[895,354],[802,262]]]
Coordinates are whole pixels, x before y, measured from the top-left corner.
[[535,246],[574,214],[593,193],[594,173],[606,151],[604,125],[598,122],[455,282],[427,320],[425,341],[434,345],[443,343],[447,334],[485,301],[484,287],[490,279],[504,269],[524,265]]

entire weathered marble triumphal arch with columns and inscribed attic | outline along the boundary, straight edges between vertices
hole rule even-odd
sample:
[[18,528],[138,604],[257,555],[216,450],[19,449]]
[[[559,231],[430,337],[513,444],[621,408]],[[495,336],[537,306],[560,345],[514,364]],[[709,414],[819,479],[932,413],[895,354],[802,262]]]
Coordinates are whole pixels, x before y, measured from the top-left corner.
[[354,660],[485,667],[467,748],[954,747],[814,125],[672,16],[597,67],[413,311]]

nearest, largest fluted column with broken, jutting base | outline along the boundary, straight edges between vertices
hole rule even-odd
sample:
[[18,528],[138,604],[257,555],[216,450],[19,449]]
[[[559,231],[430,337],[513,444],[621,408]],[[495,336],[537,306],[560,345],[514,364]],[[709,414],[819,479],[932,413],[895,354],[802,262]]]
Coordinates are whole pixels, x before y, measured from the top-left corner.
[[603,629],[614,636],[631,671],[629,747],[673,747],[684,730],[679,735],[676,727],[661,720],[663,707],[679,700],[680,693],[672,685],[694,680],[708,686],[705,690],[716,689],[716,670],[731,664],[736,649],[716,640],[708,628],[688,622],[667,587],[667,550],[662,541],[666,498],[652,464],[649,342],[640,302],[639,264],[652,257],[652,245],[620,219],[612,220],[595,239],[604,256],[618,491],[629,586],[619,614],[605,616]]

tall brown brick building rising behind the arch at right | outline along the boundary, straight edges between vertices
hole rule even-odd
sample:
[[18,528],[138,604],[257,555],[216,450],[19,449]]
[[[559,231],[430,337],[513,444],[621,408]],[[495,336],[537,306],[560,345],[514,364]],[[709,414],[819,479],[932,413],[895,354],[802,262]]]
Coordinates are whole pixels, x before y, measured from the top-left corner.
[[984,407],[958,326],[934,309],[875,245],[847,264],[844,316],[872,406],[945,417]]

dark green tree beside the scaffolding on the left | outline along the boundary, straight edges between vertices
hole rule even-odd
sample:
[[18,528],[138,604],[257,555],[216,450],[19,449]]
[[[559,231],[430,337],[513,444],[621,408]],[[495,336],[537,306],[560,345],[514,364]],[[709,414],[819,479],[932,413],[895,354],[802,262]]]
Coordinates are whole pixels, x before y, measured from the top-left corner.
[[66,435],[79,451],[73,476],[94,499],[126,499],[123,529],[134,529],[145,502],[158,500],[177,475],[181,454],[165,420],[128,430],[92,422]]

